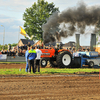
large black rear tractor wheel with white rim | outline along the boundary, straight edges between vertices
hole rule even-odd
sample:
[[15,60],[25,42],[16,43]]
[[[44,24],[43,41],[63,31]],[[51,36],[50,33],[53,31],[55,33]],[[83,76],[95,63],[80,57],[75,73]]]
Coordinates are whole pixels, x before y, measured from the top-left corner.
[[57,64],[60,68],[69,68],[72,64],[72,55],[68,51],[60,52],[57,56]]

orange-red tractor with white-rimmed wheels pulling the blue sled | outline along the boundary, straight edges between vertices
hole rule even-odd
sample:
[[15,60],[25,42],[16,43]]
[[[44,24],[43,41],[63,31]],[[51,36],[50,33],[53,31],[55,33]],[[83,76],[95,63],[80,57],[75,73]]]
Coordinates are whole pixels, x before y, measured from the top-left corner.
[[72,64],[72,55],[67,49],[41,49],[41,67],[46,67],[48,61],[52,67],[68,68]]

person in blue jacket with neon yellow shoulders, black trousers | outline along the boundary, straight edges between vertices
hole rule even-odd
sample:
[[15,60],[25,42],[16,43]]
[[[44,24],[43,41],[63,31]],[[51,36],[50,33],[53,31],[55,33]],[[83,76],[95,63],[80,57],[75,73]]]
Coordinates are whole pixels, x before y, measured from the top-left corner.
[[27,55],[29,73],[31,73],[31,66],[32,66],[33,73],[35,73],[35,70],[34,70],[34,59],[37,57],[37,54],[36,54],[36,51],[33,48],[34,47],[31,46],[31,49],[28,51],[28,55]]

